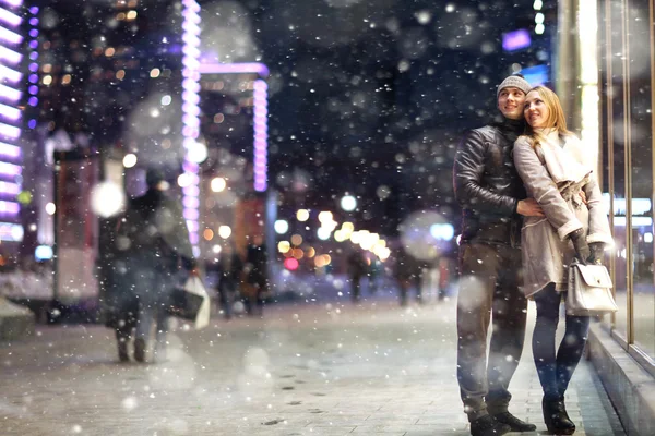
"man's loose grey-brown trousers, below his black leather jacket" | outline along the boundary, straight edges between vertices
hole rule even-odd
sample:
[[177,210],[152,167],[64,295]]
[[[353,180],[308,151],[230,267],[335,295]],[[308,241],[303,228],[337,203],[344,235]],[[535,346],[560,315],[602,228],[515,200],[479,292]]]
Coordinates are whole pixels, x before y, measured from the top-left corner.
[[521,360],[527,316],[520,284],[521,250],[479,243],[460,246],[457,380],[471,422],[505,412],[512,398],[508,386]]

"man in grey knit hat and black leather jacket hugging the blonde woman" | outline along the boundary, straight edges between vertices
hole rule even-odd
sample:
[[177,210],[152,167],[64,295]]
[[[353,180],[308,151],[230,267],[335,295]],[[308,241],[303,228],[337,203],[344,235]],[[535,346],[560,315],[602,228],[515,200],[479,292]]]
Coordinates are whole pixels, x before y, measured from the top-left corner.
[[469,131],[453,168],[455,197],[463,209],[457,380],[473,436],[536,429],[508,411],[508,386],[521,359],[527,315],[527,301],[519,290],[521,216],[543,216],[533,198],[525,199],[512,159],[514,141],[525,126],[523,104],[529,89],[519,75],[502,81],[497,90],[502,121]]

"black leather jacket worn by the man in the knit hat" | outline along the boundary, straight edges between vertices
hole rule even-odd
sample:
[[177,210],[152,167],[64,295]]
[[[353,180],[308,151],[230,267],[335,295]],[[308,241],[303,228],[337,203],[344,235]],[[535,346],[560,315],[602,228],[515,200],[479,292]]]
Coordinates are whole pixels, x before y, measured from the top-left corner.
[[453,168],[455,198],[463,209],[462,242],[520,246],[516,206],[526,195],[512,150],[524,125],[504,119],[462,138]]

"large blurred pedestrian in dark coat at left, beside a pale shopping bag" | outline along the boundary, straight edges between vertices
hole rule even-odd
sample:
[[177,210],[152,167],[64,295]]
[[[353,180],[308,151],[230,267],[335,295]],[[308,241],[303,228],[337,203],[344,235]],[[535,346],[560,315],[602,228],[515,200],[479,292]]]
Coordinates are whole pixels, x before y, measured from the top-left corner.
[[[132,199],[120,223],[116,240],[124,259],[126,300],[138,305],[134,360],[144,362],[151,329],[155,325],[155,359],[166,359],[168,306],[172,290],[195,271],[195,259],[189,241],[187,222],[178,201],[166,193],[169,185],[164,172],[148,169],[147,192]],[[129,326],[129,325],[128,325]],[[127,326],[126,326],[127,327]],[[119,356],[124,358],[131,331],[118,328]]]

